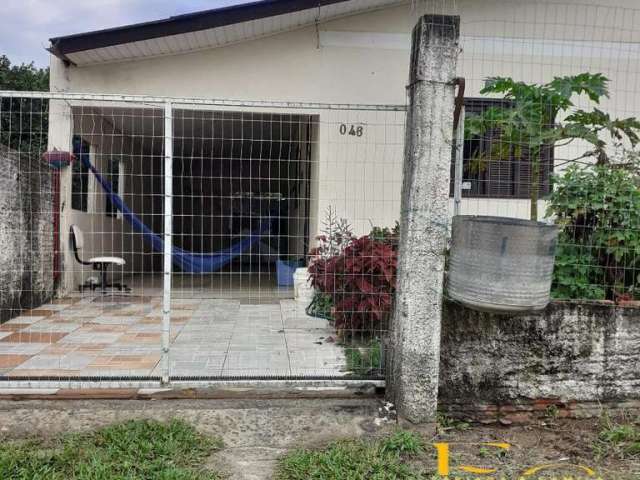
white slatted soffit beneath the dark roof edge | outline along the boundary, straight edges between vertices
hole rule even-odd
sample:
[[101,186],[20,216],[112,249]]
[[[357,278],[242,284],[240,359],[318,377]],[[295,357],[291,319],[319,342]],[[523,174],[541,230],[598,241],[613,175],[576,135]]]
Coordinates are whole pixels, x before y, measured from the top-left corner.
[[313,25],[316,22],[322,23],[356,13],[364,13],[366,11],[404,3],[407,3],[407,0],[349,0],[325,5],[320,8],[310,8],[223,27],[123,43],[93,50],[82,50],[67,53],[66,56],[74,64],[83,66],[188,53],[208,48],[222,47],[280,32],[295,30],[304,26]]

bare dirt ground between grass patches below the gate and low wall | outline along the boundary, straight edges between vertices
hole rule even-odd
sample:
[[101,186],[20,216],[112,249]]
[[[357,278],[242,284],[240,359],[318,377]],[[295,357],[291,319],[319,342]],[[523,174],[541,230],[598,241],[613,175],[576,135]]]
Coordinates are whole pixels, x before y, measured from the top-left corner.
[[[48,438],[127,419],[181,418],[222,438],[225,447],[211,464],[230,478],[267,479],[289,449],[379,436],[397,428],[394,422],[380,420],[381,405],[377,398],[0,401],[0,441]],[[496,478],[518,478],[537,465],[571,463],[588,466],[603,479],[640,478],[637,459],[620,458],[616,452],[604,458],[596,455],[601,421],[549,418],[527,426],[468,426],[443,419],[436,436],[432,430],[422,431],[427,451],[417,461],[423,471],[435,471],[436,449],[430,453],[430,444],[448,442],[452,476],[461,465],[493,467]],[[477,445],[480,442],[506,442],[510,448]]]

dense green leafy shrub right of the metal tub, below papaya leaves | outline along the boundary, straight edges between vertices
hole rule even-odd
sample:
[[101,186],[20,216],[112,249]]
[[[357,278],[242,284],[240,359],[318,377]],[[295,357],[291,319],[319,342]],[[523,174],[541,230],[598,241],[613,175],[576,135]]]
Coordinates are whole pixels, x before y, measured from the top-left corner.
[[572,165],[554,178],[547,216],[560,228],[555,298],[638,296],[638,180],[633,170],[615,165]]

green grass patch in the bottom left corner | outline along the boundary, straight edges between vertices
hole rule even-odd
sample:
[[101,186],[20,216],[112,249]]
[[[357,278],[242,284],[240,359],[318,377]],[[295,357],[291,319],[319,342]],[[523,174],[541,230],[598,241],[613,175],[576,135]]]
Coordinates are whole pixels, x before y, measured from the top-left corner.
[[49,441],[0,444],[2,480],[212,480],[203,469],[222,442],[172,420],[129,421]]

